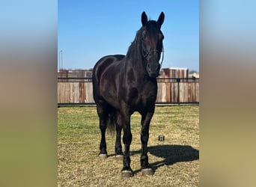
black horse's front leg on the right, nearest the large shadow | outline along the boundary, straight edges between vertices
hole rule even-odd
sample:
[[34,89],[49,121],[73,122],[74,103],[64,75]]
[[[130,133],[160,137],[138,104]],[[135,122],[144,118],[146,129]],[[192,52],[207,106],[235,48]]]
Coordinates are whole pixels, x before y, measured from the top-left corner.
[[153,112],[147,112],[147,114],[142,114],[141,116],[141,172],[146,175],[153,175],[153,169],[150,168],[147,156],[147,142],[152,117]]

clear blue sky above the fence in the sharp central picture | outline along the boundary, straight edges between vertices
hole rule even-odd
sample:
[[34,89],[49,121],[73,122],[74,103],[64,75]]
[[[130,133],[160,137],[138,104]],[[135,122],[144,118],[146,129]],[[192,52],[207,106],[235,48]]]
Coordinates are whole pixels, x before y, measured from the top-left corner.
[[199,71],[198,0],[58,1],[58,54],[62,50],[63,68],[89,69],[104,55],[125,55],[141,28],[143,11],[154,20],[165,13],[162,67]]

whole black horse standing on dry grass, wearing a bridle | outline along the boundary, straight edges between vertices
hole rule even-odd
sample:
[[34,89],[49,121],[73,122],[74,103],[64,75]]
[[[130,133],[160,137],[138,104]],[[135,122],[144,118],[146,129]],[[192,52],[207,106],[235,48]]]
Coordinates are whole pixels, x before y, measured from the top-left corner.
[[[129,46],[127,55],[108,55],[97,61],[93,72],[94,100],[100,117],[100,155],[106,158],[106,127],[115,126],[116,156],[124,156],[122,177],[132,177],[129,146],[132,142],[130,116],[138,111],[141,114],[141,171],[153,174],[147,157],[150,120],[155,110],[157,83],[161,65],[164,38],[161,25],[165,14],[157,21],[147,20],[141,14],[142,27]],[[113,129],[113,128],[112,128]],[[124,130],[124,153],[121,147],[121,131]]]

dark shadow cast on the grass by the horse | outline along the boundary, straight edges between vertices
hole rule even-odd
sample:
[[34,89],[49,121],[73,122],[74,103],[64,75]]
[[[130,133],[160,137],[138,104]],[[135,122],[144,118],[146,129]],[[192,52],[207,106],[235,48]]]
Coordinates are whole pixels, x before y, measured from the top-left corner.
[[[163,165],[174,165],[177,162],[189,162],[199,159],[199,150],[188,145],[156,145],[147,147],[148,153],[161,157],[163,160],[150,163],[153,171]],[[130,155],[140,154],[141,150],[131,151]],[[134,171],[138,173],[138,171]]]

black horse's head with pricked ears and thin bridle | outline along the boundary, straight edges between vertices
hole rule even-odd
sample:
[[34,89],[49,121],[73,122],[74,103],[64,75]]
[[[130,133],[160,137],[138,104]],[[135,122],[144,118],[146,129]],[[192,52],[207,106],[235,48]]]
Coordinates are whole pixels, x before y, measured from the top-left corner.
[[145,12],[141,14],[141,53],[145,60],[145,68],[148,76],[155,78],[159,75],[161,64],[159,60],[162,53],[162,40],[164,35],[161,31],[162,23],[165,19],[165,14],[162,12],[157,21],[147,20]]

